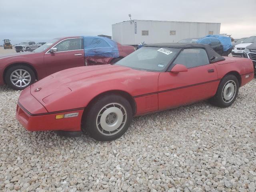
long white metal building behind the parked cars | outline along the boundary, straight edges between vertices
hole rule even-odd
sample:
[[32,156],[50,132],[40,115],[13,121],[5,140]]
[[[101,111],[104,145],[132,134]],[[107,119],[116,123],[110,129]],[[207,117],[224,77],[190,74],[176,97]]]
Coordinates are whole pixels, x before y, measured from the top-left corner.
[[130,20],[112,24],[112,39],[124,45],[172,43],[220,34],[220,23]]

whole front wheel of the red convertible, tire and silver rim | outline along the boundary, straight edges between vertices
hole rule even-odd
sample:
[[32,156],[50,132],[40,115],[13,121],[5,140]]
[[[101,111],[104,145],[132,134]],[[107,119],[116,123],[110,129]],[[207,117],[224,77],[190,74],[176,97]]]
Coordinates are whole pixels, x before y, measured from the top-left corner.
[[82,130],[98,141],[110,141],[122,136],[132,121],[132,107],[120,95],[101,96],[83,114]]

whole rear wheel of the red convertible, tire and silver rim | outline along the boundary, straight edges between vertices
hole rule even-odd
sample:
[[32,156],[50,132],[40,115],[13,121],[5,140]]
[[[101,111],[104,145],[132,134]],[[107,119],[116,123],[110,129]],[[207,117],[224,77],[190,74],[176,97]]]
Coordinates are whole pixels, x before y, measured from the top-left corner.
[[238,94],[239,83],[234,75],[227,75],[222,78],[217,92],[210,102],[218,107],[228,107],[234,103]]

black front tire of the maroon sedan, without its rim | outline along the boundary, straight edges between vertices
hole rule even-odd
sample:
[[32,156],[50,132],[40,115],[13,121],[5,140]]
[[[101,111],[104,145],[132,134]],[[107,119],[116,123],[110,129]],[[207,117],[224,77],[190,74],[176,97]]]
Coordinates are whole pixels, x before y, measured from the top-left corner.
[[[30,75],[30,82],[28,85],[23,86],[23,87],[19,87],[19,86],[15,86],[14,84],[12,84],[11,80],[10,80],[10,76],[12,74],[12,72],[14,72],[15,70],[26,70],[28,72],[28,74]],[[24,66],[24,65],[16,65],[16,66],[12,66],[10,67],[5,74],[5,82],[6,84],[10,87],[13,88],[14,90],[23,90],[26,87],[30,86],[32,83],[34,83],[36,80],[36,76],[34,71],[28,67],[28,66]]]

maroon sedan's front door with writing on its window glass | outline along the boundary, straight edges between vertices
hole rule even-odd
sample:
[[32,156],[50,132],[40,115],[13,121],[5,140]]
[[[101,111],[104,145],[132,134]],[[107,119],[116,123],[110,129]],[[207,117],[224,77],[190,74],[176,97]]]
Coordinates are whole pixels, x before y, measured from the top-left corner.
[[44,54],[44,74],[50,75],[64,69],[84,66],[82,38],[68,38],[52,48],[57,48],[57,52],[48,50]]

